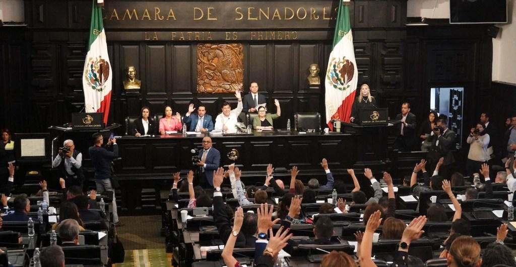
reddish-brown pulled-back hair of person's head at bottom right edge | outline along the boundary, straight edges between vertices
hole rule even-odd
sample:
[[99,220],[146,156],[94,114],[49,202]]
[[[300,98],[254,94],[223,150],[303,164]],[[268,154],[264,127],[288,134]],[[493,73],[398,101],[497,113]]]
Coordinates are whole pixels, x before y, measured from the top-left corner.
[[469,236],[460,236],[451,243],[446,263],[449,267],[479,267],[480,245]]

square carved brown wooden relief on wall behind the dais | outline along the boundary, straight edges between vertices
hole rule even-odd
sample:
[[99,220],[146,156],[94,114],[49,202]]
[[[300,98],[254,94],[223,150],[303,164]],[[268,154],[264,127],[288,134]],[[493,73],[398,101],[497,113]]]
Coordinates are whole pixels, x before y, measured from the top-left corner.
[[241,44],[198,44],[197,92],[214,94],[242,90],[243,50]]

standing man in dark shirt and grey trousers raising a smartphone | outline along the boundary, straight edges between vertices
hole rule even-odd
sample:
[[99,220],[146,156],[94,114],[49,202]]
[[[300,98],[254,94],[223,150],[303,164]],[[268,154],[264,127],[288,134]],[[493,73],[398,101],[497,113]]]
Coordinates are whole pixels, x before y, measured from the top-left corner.
[[113,222],[116,226],[122,226],[118,221],[117,202],[115,198],[115,190],[111,186],[111,162],[118,157],[117,138],[113,134],[109,136],[106,146],[104,137],[101,133],[93,134],[93,146],[88,149],[95,171],[95,185],[97,192],[112,191],[113,192]]

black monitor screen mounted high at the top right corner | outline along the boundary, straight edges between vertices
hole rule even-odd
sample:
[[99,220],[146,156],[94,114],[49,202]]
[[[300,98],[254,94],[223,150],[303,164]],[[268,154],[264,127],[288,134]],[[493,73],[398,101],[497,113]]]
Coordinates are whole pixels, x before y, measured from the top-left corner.
[[507,0],[450,0],[450,24],[507,23]]

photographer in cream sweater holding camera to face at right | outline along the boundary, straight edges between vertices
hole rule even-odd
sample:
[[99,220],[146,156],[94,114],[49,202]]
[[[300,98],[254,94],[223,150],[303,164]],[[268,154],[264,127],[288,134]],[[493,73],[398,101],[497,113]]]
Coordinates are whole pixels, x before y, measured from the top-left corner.
[[467,153],[466,161],[467,175],[473,176],[473,173],[480,170],[483,163],[489,161],[487,147],[490,136],[484,130],[486,130],[486,125],[477,122],[476,128],[471,128],[471,133],[467,137],[467,144],[470,144],[470,152]]

